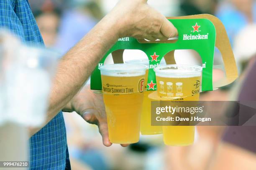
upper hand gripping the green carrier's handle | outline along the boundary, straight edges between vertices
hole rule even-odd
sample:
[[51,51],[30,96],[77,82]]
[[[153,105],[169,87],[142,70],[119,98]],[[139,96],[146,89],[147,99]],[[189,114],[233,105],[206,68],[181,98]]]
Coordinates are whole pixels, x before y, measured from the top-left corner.
[[147,0],[120,0],[108,17],[120,27],[119,37],[167,40],[178,35],[177,29],[161,13],[148,6]]

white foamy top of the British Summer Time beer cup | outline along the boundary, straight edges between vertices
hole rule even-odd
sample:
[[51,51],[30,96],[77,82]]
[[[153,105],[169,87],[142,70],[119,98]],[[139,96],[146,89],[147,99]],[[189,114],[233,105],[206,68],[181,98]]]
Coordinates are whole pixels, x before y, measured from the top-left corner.
[[101,75],[115,77],[135,77],[146,74],[147,67],[142,64],[110,64],[99,67]]

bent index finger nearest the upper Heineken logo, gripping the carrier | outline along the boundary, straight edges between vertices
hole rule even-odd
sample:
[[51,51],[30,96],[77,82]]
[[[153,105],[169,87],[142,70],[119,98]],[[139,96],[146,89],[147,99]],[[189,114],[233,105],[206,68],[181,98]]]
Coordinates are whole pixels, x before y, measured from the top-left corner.
[[178,35],[177,28],[175,28],[174,25],[166,18],[164,18],[163,20],[164,21],[160,29],[162,35],[167,38],[176,37]]

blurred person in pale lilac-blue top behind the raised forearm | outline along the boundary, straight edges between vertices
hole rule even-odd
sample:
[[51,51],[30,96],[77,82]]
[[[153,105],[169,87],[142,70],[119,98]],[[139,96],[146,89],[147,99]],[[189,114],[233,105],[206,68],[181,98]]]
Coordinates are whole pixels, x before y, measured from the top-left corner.
[[103,17],[97,2],[70,0],[60,19],[55,47],[64,54],[82,39]]

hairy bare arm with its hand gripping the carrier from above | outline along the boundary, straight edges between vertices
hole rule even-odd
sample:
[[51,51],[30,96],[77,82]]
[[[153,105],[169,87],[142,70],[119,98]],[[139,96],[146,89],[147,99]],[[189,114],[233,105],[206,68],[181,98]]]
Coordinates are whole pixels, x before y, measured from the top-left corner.
[[[45,124],[64,107],[65,111],[74,111],[70,100],[119,37],[167,40],[177,35],[177,29],[172,23],[146,2],[147,0],[120,0],[113,10],[60,60],[51,88]],[[38,130],[40,129],[31,130],[31,135]]]

